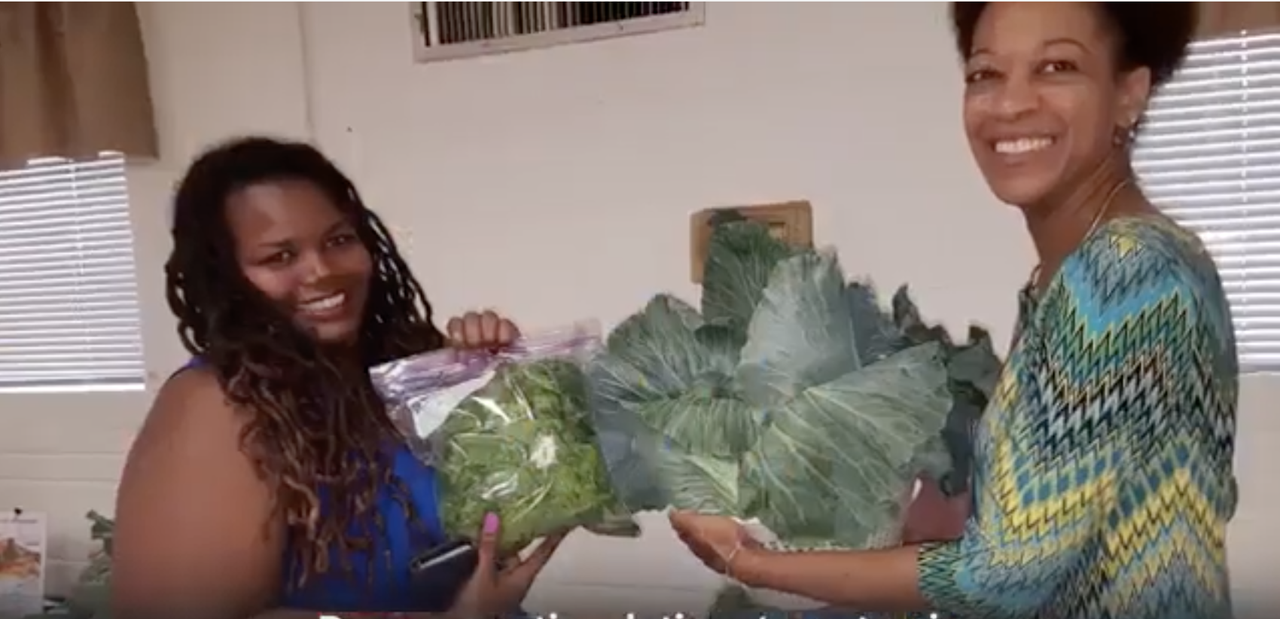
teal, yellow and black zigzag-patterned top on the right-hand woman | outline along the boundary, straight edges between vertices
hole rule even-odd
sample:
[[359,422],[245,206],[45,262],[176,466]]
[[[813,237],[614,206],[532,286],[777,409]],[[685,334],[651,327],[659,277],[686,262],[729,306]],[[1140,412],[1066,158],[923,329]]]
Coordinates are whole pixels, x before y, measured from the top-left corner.
[[933,609],[1224,616],[1234,339],[1212,263],[1158,242],[1096,235],[1046,290],[997,390],[965,535],[920,550]]

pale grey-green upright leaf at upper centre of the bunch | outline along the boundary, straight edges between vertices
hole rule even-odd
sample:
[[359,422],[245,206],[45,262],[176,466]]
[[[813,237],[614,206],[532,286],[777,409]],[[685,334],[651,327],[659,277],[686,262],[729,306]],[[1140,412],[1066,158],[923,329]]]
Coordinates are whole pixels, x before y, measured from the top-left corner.
[[808,252],[778,263],[748,327],[737,385],[773,409],[813,385],[861,367],[835,255]]

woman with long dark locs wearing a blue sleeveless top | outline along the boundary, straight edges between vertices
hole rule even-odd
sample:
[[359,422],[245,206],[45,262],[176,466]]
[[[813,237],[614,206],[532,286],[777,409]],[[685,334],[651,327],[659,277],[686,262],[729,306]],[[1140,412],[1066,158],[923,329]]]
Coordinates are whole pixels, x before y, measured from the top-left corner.
[[160,390],[125,464],[115,615],[515,611],[558,540],[498,570],[495,517],[461,592],[411,584],[412,558],[443,540],[434,476],[367,370],[500,347],[516,327],[468,313],[445,338],[379,217],[301,143],[243,138],[200,156],[173,243],[168,301],[195,361]]

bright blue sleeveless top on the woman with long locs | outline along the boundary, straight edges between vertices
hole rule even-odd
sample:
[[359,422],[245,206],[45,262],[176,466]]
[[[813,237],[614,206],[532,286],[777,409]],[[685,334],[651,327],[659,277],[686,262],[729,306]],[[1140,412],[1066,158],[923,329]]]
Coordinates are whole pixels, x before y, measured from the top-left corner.
[[[198,364],[200,361],[193,359],[179,372]],[[370,561],[366,552],[351,554],[346,558],[351,564],[348,572],[343,569],[343,558],[338,556],[338,549],[332,547],[330,570],[307,578],[306,586],[298,588],[291,586],[294,581],[293,554],[292,549],[285,549],[279,606],[330,613],[448,610],[451,596],[431,592],[424,599],[421,591],[410,587],[408,567],[412,559],[445,538],[436,505],[435,471],[419,460],[404,444],[396,444],[389,449],[393,457],[392,472],[408,492],[408,500],[413,504],[419,522],[408,522],[404,509],[397,500],[396,489],[379,489],[375,509],[383,518],[383,531],[380,538],[374,540],[374,560]],[[321,518],[328,517],[329,508],[325,503],[321,494]]]

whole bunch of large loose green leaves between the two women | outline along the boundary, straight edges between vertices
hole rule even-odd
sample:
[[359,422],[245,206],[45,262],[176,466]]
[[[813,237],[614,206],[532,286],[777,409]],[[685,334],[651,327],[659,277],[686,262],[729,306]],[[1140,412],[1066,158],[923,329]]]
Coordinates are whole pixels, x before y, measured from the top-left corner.
[[892,306],[835,255],[719,220],[701,312],[658,295],[590,364],[623,503],[756,519],[781,547],[896,544],[916,476],[964,489],[1000,362],[980,329],[957,347],[924,325],[905,289]]

